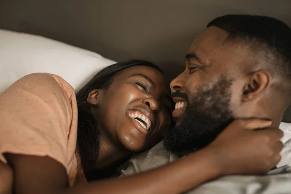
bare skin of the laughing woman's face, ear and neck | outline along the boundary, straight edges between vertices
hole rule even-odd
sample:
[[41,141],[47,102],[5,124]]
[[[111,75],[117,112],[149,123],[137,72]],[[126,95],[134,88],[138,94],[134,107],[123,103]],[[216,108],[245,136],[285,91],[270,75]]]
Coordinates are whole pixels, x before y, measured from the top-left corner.
[[[173,101],[164,76],[147,66],[129,67],[108,89],[90,92],[88,101],[100,107],[100,153],[96,168],[146,150],[157,144],[170,128]],[[138,110],[151,118],[146,132],[136,128],[129,112]]]

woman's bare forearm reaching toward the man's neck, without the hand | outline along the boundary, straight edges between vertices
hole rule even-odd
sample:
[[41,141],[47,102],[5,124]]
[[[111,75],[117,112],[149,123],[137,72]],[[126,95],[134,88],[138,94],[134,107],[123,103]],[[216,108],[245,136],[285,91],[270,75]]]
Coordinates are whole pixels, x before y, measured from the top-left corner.
[[66,194],[178,194],[220,175],[214,155],[209,150],[197,151],[144,173],[72,187]]

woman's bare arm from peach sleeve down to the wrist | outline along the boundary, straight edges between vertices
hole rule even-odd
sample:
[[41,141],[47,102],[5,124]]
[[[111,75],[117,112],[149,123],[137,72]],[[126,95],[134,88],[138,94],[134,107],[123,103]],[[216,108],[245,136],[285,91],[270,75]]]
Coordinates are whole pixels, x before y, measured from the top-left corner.
[[16,194],[178,194],[219,175],[208,151],[196,152],[138,175],[106,179],[68,188],[65,168],[49,157],[7,154],[14,166]]

